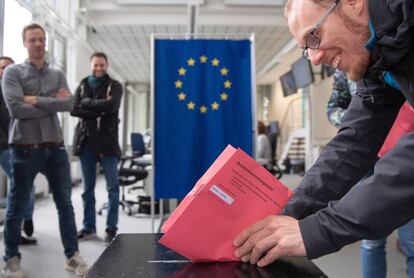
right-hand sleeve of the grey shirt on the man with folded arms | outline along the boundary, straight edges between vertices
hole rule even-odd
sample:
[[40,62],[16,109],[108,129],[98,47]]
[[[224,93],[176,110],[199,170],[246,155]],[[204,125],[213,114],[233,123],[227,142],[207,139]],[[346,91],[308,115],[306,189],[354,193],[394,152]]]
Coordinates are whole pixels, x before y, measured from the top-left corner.
[[[62,72],[59,72],[59,89],[69,90],[66,78]],[[57,92],[56,92],[57,93]],[[56,97],[45,97],[38,96],[37,103],[35,105],[41,109],[49,111],[51,113],[71,111],[73,108],[73,97],[56,98]]]

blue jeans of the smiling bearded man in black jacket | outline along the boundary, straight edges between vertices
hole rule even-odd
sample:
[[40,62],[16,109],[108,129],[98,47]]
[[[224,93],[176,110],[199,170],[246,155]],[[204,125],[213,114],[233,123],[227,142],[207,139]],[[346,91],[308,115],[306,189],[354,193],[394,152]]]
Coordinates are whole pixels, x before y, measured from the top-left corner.
[[[98,158],[88,142],[83,144],[79,157],[84,181],[84,191],[82,194],[84,209],[83,228],[89,232],[96,232],[95,183]],[[104,155],[99,157],[99,160],[105,174],[106,190],[108,191],[106,227],[108,229],[116,229],[119,208],[118,157],[115,155]]]

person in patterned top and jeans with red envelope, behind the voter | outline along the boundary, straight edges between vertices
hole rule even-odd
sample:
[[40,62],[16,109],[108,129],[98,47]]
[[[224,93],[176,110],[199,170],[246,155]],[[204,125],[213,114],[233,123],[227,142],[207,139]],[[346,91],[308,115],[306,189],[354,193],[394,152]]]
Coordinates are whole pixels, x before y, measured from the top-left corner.
[[[339,128],[349,103],[352,100],[352,96],[356,94],[356,83],[349,80],[346,73],[336,70],[334,74],[334,82],[332,95],[329,98],[327,105],[327,115],[329,122]],[[405,118],[404,118],[405,117]],[[411,117],[411,118],[410,118]],[[390,133],[384,143],[384,147],[380,150],[379,156],[383,156],[390,150],[387,147],[386,152],[383,150],[385,146],[396,144],[399,138],[406,132],[414,131],[414,112],[408,103],[405,103],[399,115],[397,116],[394,126],[391,128]],[[402,132],[402,121],[405,122],[405,128]],[[411,123],[411,125],[410,125]],[[396,134],[397,133],[397,134]],[[392,139],[391,139],[392,138]],[[370,177],[373,174],[373,170],[370,170],[363,179]],[[407,261],[407,269],[410,277],[414,277],[414,220],[411,220],[404,226],[398,228],[398,237],[400,240],[401,248],[404,250]],[[387,238],[379,240],[363,239],[361,241],[361,270],[362,277],[378,277],[385,278],[387,276],[387,258],[386,258],[386,246]]]

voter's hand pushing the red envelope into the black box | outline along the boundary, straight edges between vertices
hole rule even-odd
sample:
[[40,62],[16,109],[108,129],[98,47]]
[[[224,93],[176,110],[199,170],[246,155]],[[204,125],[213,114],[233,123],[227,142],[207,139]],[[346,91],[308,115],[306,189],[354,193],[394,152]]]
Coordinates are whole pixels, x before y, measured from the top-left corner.
[[260,267],[282,256],[306,256],[299,222],[289,216],[268,216],[240,233],[233,244],[236,257]]

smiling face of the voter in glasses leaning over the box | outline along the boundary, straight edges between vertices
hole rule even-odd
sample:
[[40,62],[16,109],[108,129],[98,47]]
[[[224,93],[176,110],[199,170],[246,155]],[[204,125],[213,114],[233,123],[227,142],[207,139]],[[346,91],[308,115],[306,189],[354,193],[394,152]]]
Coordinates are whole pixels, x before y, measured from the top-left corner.
[[[303,48],[306,36],[328,7],[310,0],[294,0],[291,5],[290,11],[286,13],[288,26],[299,46]],[[370,35],[369,16],[366,9],[361,16],[353,7],[347,5],[347,1],[342,0],[336,7],[336,10],[342,9],[340,13],[331,13],[320,25],[316,31],[321,38],[320,46],[316,50],[308,49],[308,53],[312,64],[331,65],[347,72],[351,80],[358,80],[365,75],[370,62],[370,53],[365,48]]]

